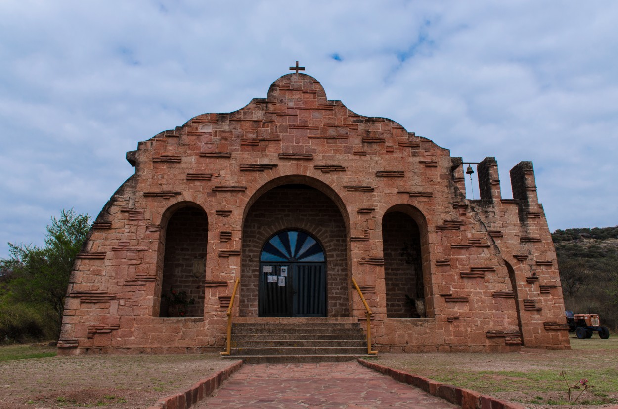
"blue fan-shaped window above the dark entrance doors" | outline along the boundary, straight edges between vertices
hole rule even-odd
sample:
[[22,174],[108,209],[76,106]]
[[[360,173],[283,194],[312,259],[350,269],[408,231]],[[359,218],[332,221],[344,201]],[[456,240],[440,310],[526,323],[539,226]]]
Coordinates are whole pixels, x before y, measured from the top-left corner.
[[324,250],[320,243],[307,233],[288,230],[268,240],[262,248],[260,261],[323,263]]

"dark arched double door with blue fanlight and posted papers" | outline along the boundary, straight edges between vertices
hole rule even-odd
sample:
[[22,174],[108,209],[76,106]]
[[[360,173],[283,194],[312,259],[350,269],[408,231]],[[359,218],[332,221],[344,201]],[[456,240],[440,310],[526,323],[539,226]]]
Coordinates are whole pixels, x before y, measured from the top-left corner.
[[273,235],[260,252],[260,316],[326,316],[325,262],[310,234]]

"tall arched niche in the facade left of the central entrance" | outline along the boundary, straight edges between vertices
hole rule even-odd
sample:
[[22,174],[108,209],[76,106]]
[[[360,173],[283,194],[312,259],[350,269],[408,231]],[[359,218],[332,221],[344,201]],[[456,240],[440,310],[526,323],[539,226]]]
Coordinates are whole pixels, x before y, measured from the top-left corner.
[[208,248],[208,216],[199,205],[180,202],[161,220],[159,316],[201,317]]

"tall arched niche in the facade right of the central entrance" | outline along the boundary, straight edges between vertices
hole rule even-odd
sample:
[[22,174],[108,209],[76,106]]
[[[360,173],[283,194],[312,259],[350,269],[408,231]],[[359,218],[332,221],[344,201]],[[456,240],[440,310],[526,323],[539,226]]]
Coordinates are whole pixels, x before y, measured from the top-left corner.
[[386,316],[425,318],[429,292],[425,217],[417,208],[397,205],[382,219]]

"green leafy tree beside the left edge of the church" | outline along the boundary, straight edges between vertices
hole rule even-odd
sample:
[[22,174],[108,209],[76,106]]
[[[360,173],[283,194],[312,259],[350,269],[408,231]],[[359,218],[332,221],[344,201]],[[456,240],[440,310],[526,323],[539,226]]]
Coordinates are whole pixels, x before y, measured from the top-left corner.
[[44,247],[9,243],[11,257],[0,259],[0,271],[6,278],[2,284],[4,298],[15,306],[30,305],[48,316],[56,337],[62,325],[70,272],[89,230],[90,216],[63,209],[58,219],[51,218]]

